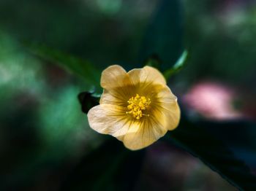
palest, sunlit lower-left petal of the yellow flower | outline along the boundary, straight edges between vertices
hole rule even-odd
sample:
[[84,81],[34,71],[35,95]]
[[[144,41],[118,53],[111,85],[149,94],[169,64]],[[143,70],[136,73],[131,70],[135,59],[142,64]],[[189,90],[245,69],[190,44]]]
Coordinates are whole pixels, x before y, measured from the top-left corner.
[[121,106],[101,104],[91,108],[87,114],[92,129],[121,139],[127,133],[129,120]]

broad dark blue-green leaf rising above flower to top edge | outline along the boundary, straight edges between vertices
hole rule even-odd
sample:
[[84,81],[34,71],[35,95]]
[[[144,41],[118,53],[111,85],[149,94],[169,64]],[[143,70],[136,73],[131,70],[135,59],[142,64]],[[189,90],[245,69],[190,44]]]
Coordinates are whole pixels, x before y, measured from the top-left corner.
[[143,41],[140,61],[151,55],[161,60],[160,70],[170,69],[184,50],[181,4],[178,0],[161,0]]

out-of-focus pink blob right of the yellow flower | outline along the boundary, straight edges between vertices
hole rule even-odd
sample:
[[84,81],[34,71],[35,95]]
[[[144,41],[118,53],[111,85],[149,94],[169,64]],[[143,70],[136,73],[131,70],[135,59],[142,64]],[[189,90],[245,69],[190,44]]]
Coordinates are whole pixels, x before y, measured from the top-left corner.
[[213,120],[233,120],[241,113],[233,107],[235,92],[217,82],[200,82],[184,95],[183,101],[206,118]]

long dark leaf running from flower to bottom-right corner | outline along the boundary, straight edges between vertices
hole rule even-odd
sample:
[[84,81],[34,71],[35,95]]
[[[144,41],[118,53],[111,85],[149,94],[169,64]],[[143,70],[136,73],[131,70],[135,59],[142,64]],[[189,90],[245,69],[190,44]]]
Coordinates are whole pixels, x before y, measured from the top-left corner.
[[233,154],[223,141],[214,137],[206,127],[182,118],[176,130],[168,133],[178,146],[199,157],[212,170],[240,190],[256,190],[256,177],[249,167]]

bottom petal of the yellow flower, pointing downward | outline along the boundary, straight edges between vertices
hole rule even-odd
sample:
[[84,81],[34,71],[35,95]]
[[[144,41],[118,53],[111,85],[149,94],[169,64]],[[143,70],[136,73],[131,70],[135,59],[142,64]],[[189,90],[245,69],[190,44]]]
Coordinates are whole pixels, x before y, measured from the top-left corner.
[[124,136],[124,146],[132,150],[143,149],[164,136],[166,132],[161,124],[150,117],[146,120],[134,121]]

